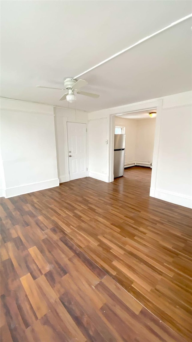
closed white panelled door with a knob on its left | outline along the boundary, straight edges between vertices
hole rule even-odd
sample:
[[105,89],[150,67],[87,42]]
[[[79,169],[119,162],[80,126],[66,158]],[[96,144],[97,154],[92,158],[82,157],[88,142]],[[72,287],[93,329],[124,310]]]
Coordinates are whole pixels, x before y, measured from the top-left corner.
[[87,177],[86,123],[67,122],[70,181]]

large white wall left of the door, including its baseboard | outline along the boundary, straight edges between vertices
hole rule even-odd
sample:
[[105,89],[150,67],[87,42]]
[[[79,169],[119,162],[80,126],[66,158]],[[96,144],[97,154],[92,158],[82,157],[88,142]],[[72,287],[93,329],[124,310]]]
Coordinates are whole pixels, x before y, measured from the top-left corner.
[[1,99],[5,196],[57,186],[53,107]]

